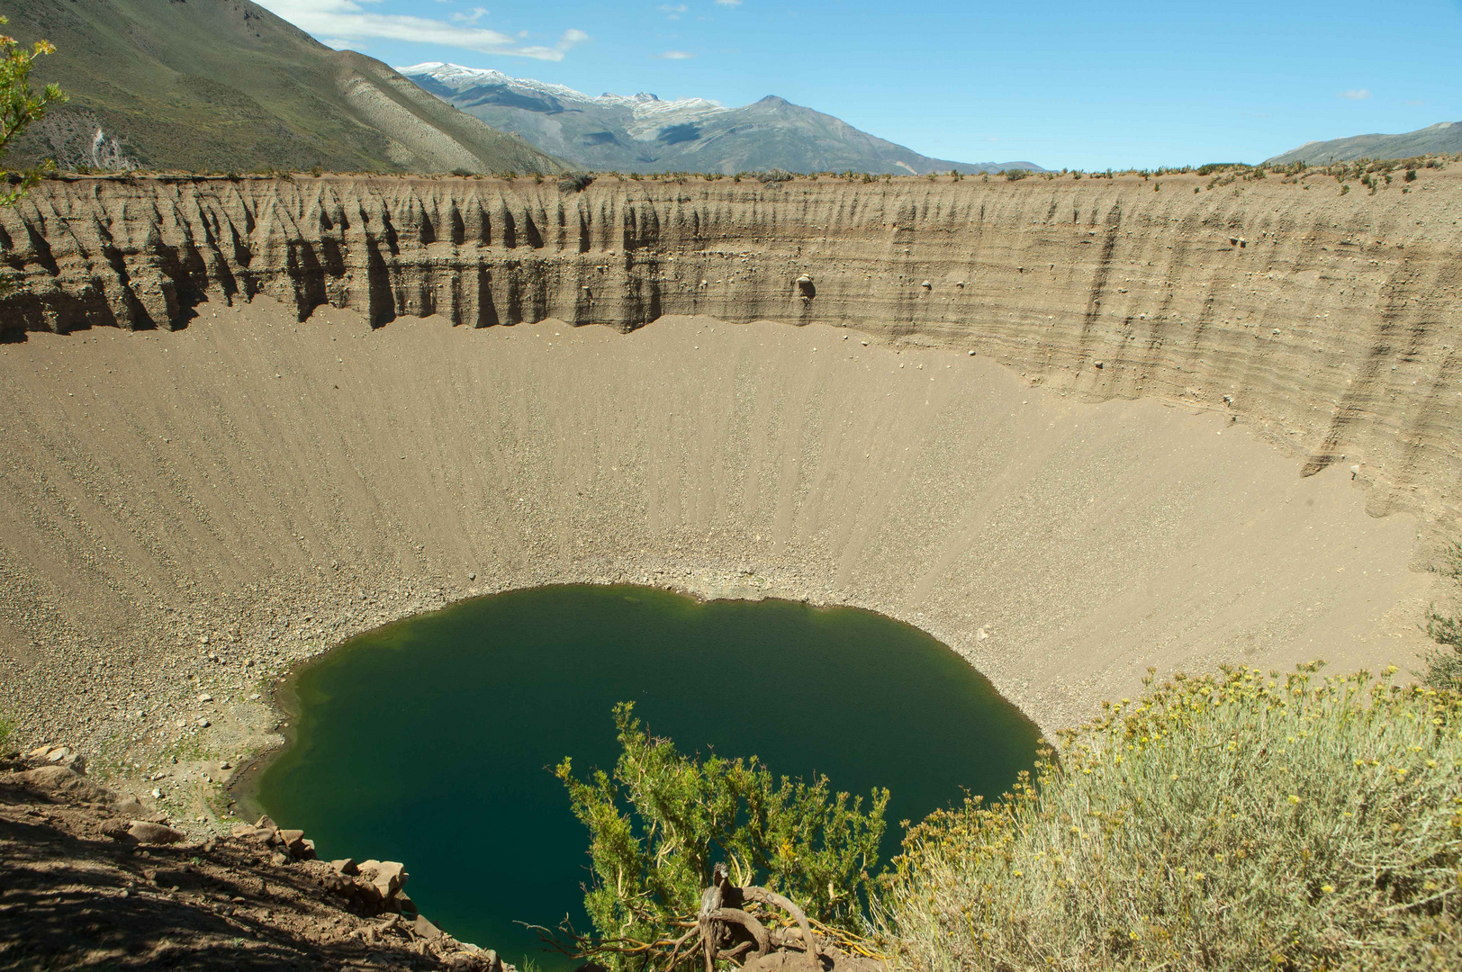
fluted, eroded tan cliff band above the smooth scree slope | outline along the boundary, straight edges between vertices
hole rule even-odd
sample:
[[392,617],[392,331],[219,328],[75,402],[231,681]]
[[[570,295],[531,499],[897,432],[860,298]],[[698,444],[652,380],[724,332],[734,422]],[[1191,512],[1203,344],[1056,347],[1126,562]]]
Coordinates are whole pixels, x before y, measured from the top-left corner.
[[1453,526],[1462,177],[1206,186],[56,180],[0,210],[20,284],[0,326],[171,329],[256,294],[377,326],[832,323],[1085,396],[1231,409],[1304,474],[1358,465],[1373,513],[1399,500]]

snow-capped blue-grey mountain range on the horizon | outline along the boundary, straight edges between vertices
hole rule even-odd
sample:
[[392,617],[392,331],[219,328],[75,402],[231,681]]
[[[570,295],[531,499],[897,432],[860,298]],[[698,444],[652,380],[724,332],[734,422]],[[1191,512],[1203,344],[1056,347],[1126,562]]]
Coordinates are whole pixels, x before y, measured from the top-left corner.
[[776,96],[725,108],[705,98],[599,95],[496,70],[398,67],[443,101],[588,170],[620,172],[846,171],[924,174],[1045,171],[1034,162],[950,162],[860,132]]

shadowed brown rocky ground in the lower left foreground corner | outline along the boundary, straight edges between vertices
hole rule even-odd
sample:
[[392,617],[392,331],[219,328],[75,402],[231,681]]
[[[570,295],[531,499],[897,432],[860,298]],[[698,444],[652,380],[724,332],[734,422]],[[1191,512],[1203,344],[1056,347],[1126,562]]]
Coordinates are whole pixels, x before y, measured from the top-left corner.
[[512,969],[417,914],[401,864],[161,820],[64,747],[0,759],[0,969]]

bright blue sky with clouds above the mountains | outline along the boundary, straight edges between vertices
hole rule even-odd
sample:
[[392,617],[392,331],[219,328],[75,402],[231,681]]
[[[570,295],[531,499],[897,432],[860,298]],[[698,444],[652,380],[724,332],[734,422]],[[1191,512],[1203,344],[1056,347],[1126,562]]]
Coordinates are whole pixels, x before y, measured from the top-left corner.
[[257,1],[396,66],[727,105],[775,94],[962,162],[1256,162],[1462,121],[1462,0]]

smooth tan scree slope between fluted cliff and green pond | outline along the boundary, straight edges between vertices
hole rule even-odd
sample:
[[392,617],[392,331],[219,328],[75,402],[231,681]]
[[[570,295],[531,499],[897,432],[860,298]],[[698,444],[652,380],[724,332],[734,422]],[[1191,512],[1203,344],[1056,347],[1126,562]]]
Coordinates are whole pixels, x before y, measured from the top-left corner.
[[0,345],[0,707],[161,767],[174,816],[270,738],[272,674],[472,593],[860,605],[1047,729],[1148,665],[1406,664],[1430,596],[1415,517],[1246,421],[827,326],[373,330],[259,298]]

